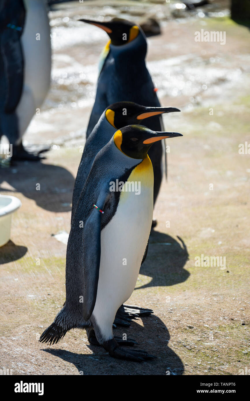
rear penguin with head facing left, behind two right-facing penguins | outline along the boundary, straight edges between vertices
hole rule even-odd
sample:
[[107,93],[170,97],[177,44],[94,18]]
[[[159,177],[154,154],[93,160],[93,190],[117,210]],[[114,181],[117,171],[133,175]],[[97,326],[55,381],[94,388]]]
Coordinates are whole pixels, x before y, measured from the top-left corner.
[[[144,106],[159,107],[156,88],[146,68],[146,36],[140,26],[128,20],[114,18],[109,22],[81,19],[102,28],[110,36],[101,55],[96,100],[87,127],[87,138],[97,124],[104,109],[118,101],[133,101]],[[163,130],[161,115],[154,115],[145,122],[154,131]],[[162,180],[162,144],[157,142],[149,150],[154,170],[154,203]],[[165,152],[165,161],[166,161]],[[167,163],[166,176],[167,176]],[[152,227],[156,225],[153,222]]]

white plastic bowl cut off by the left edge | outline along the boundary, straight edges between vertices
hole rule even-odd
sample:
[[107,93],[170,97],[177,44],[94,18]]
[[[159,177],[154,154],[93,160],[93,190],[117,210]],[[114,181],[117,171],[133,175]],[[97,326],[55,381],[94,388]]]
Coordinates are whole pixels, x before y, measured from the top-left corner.
[[0,247],[9,241],[11,216],[21,205],[15,196],[0,195]]

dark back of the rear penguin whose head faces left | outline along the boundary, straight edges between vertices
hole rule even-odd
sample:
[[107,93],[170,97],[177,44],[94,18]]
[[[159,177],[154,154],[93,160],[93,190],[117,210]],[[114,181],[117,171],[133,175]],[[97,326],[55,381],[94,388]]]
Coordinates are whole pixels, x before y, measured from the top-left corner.
[[[119,48],[119,49],[118,49]],[[159,107],[151,76],[146,68],[146,38],[142,31],[131,43],[110,45],[110,51],[102,67],[96,100],[87,127],[88,137],[104,109],[118,101],[133,101],[144,106]],[[162,128],[161,116],[145,120],[144,125],[154,131]]]

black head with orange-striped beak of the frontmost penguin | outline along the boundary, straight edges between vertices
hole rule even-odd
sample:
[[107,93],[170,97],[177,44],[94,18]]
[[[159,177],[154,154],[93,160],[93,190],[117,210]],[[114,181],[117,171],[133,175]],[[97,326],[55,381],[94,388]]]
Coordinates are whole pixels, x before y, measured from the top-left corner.
[[124,154],[134,159],[144,159],[154,142],[164,138],[182,136],[179,132],[156,132],[140,125],[130,125],[121,128],[114,134],[116,147]]

